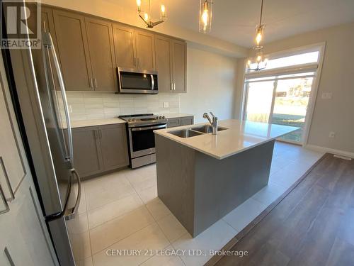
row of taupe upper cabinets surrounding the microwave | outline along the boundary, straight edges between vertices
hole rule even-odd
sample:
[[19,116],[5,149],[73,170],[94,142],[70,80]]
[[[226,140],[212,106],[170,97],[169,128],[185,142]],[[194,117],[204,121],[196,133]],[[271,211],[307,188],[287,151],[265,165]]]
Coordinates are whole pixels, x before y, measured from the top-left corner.
[[118,92],[116,68],[125,67],[157,70],[160,92],[186,92],[184,41],[75,11],[42,10],[67,90]]

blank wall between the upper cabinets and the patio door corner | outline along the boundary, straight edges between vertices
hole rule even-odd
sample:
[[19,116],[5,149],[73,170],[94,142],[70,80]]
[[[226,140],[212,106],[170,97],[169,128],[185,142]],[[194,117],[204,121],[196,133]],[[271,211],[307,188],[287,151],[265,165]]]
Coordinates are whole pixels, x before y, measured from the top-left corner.
[[195,123],[205,122],[202,114],[212,111],[219,119],[233,117],[236,60],[212,52],[187,49],[187,88],[180,94],[181,113],[195,115]]

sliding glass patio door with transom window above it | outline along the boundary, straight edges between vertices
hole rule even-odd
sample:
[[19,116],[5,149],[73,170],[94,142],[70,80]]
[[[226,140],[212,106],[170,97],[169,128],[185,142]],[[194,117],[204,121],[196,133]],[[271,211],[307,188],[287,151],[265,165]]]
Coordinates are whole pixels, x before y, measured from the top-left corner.
[[244,119],[299,127],[282,140],[302,143],[318,60],[319,50],[302,52],[269,60],[270,70],[246,72]]

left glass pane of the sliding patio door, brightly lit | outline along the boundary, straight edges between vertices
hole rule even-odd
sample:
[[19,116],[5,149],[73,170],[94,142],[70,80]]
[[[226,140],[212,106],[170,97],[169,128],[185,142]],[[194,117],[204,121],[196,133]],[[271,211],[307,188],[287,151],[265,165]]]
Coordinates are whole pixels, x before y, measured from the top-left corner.
[[248,85],[246,120],[268,123],[274,82],[252,82]]

